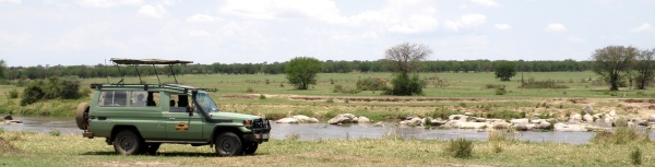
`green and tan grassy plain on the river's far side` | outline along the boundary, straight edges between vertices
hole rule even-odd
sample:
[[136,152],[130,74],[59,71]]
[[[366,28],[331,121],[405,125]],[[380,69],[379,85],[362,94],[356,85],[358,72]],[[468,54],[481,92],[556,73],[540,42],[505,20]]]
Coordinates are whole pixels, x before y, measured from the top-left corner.
[[[308,91],[296,91],[284,74],[211,74],[180,75],[180,84],[198,87],[218,88],[212,96],[223,110],[269,116],[277,119],[290,115],[303,114],[325,118],[336,114],[352,112],[367,116],[373,120],[395,119],[409,114],[431,116],[439,110],[450,111],[519,111],[532,115],[559,115],[580,112],[581,108],[592,105],[600,111],[617,110],[623,115],[647,117],[655,112],[655,106],[643,100],[655,97],[653,88],[636,91],[623,87],[619,92],[607,92],[607,85],[597,84],[593,72],[531,72],[524,73],[525,81],[552,80],[569,88],[520,88],[521,74],[510,82],[501,82],[493,73],[421,73],[428,85],[424,96],[397,97],[380,95],[380,91],[366,91],[358,94],[334,93],[335,85],[355,88],[360,79],[381,77],[391,81],[391,73],[323,73],[317,85]],[[158,83],[156,76],[142,76],[146,83]],[[109,79],[115,83],[119,79]],[[162,82],[174,82],[172,76],[159,76]],[[441,80],[442,84],[439,84]],[[85,79],[83,86],[90,83],[105,83],[107,79]],[[138,83],[139,77],[126,77],[127,83]],[[596,84],[594,84],[596,83]],[[496,95],[490,85],[504,85],[507,93]],[[28,116],[73,116],[76,104],[82,99],[55,99],[28,106],[20,106],[20,99],[9,99],[8,92],[22,87],[0,85],[0,114],[13,111],[14,115]],[[264,96],[265,99],[260,99]],[[632,100],[638,99],[638,100]]]

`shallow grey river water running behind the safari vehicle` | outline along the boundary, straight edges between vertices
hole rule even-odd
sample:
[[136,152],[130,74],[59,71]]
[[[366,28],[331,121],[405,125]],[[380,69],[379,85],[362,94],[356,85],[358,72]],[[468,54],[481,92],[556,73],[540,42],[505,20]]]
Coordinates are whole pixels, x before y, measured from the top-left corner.
[[[50,132],[61,131],[62,133],[80,133],[82,130],[75,126],[74,118],[52,118],[52,117],[14,117],[15,120],[22,120],[23,124],[0,124],[0,127],[10,131],[37,131]],[[385,127],[373,127],[372,124],[352,124],[352,126],[332,126],[326,123],[305,123],[305,124],[285,124],[272,123],[271,136],[274,139],[286,139],[298,136],[300,140],[319,139],[380,139],[395,134],[405,139],[425,139],[425,140],[451,140],[465,138],[468,140],[486,141],[487,132],[478,132],[469,129],[425,129],[421,127],[404,127],[385,123]],[[603,126],[603,124],[598,124]],[[519,134],[522,141],[532,142],[557,142],[571,144],[585,144],[594,135],[594,132],[521,132]],[[651,133],[651,139],[655,139],[655,133]]]

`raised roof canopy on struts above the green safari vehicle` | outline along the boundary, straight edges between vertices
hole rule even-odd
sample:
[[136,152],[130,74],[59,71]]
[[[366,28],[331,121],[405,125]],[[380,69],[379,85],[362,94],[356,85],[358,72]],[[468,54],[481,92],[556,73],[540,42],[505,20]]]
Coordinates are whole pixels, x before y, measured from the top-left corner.
[[178,84],[177,82],[177,76],[175,75],[175,71],[172,70],[172,65],[174,64],[188,64],[188,63],[193,63],[193,61],[184,61],[184,60],[164,60],[164,59],[122,59],[122,58],[111,58],[110,61],[112,61],[114,63],[116,63],[116,67],[118,68],[118,72],[120,73],[120,81],[118,81],[118,83],[116,84],[124,84],[124,74],[120,71],[120,65],[119,64],[126,64],[126,65],[134,65],[134,69],[136,69],[136,75],[139,75],[139,82],[140,84],[143,84],[143,80],[141,80],[141,73],[139,72],[139,65],[140,64],[152,64],[153,68],[155,69],[155,75],[157,75],[157,82],[159,82],[159,85],[162,85],[162,81],[159,80],[159,74],[157,73],[157,68],[155,67],[156,64],[167,64],[168,68],[170,69],[170,73],[172,74],[172,77],[175,79],[175,83]]

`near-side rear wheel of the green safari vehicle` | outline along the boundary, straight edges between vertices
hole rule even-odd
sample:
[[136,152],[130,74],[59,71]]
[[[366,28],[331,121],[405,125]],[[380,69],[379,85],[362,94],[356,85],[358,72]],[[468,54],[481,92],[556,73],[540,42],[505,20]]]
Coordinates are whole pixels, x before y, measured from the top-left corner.
[[114,138],[114,150],[122,155],[135,155],[141,153],[143,140],[131,130],[122,130]]

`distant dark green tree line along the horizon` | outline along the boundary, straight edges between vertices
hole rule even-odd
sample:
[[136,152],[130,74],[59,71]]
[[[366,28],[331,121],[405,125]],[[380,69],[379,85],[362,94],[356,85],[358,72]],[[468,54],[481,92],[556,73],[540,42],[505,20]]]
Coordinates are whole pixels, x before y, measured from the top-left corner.
[[[418,72],[493,72],[493,64],[504,61],[464,60],[464,61],[420,61]],[[516,64],[517,71],[525,72],[557,72],[557,71],[588,71],[593,68],[592,61],[575,61],[572,59],[561,61],[510,61]],[[170,69],[175,74],[284,74],[286,62],[263,63],[212,63],[187,65],[140,65],[141,75],[169,75]],[[2,61],[1,64],[4,64]],[[358,72],[393,72],[393,67],[383,59],[376,61],[321,61],[322,73]],[[120,71],[120,72],[119,72]],[[112,64],[95,65],[36,65],[36,67],[2,67],[0,79],[47,79],[49,76],[75,75],[82,79],[105,76],[135,76],[136,70],[131,65]]]

